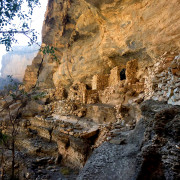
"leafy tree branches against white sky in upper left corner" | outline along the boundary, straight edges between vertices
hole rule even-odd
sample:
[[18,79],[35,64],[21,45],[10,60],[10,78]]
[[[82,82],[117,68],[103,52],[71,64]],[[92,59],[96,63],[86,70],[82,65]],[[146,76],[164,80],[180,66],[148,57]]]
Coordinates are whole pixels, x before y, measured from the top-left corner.
[[30,29],[29,22],[37,5],[40,5],[39,0],[0,0],[0,44],[4,44],[7,51],[13,42],[17,42],[15,34],[29,37],[30,44],[36,42],[37,34]]

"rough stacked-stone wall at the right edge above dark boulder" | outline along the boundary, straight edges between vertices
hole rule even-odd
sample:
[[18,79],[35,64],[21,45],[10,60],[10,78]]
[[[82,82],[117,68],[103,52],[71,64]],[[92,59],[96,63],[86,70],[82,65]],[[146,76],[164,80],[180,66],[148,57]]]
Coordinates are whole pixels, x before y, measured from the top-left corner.
[[180,105],[180,56],[164,54],[148,68],[145,97]]

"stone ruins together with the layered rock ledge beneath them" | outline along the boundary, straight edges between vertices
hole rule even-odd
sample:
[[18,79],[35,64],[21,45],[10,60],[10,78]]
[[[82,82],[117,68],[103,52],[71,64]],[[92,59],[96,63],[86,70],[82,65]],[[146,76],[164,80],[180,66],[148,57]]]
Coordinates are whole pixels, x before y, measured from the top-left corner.
[[[32,155],[47,150],[54,158],[59,154],[63,165],[80,169],[94,148],[111,142],[117,131],[135,127],[142,118],[139,105],[144,100],[180,105],[179,72],[180,56],[166,53],[148,68],[139,68],[134,59],[114,67],[110,74],[94,75],[91,85],[76,82],[69,89],[47,89],[45,97],[31,100],[23,109],[24,140],[18,146],[28,147]],[[11,108],[16,110],[16,104]],[[31,147],[34,133],[52,141],[53,148],[44,141]]]

